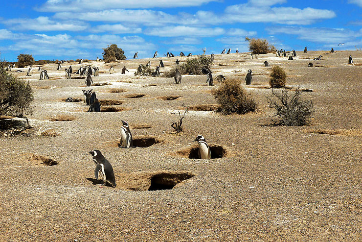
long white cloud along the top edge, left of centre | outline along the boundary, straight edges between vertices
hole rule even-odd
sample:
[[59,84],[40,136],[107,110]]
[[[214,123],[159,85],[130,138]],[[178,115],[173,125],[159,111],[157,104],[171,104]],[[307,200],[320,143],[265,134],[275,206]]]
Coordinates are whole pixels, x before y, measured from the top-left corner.
[[200,6],[215,0],[47,0],[37,8],[44,12],[78,12],[85,10],[105,10],[114,8],[154,8]]

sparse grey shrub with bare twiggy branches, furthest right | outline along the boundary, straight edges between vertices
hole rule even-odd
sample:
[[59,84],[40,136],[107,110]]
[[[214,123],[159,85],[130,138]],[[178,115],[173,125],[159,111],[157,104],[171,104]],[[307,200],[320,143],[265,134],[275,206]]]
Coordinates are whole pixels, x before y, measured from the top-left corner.
[[273,125],[301,126],[305,125],[313,113],[312,100],[301,100],[301,91],[298,87],[292,94],[291,89],[281,91],[271,90],[271,96],[267,97],[269,106],[276,110],[272,117]]

